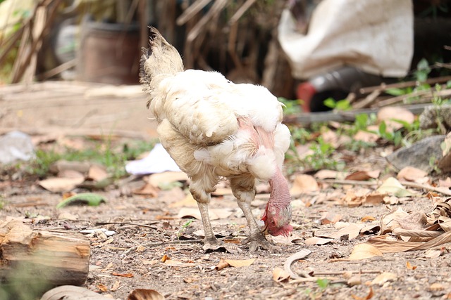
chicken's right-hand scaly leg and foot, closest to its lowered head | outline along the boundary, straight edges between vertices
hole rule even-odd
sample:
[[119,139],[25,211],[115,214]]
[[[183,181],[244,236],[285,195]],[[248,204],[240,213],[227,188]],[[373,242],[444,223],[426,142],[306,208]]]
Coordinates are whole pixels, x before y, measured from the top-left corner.
[[249,238],[243,241],[243,244],[250,243],[249,251],[254,252],[258,247],[266,250],[276,249],[276,246],[266,240],[266,237],[252,215],[251,203],[255,197],[255,179],[252,176],[240,176],[239,178],[231,178],[230,186],[233,195],[237,197],[238,206],[245,214],[247,226],[249,226]]

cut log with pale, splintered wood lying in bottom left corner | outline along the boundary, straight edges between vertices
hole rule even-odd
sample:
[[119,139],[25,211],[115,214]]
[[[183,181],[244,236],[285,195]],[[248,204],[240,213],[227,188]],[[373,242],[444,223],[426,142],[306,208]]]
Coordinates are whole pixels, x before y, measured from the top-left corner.
[[0,223],[0,280],[82,285],[89,270],[89,240],[83,235],[32,230],[22,221]]

